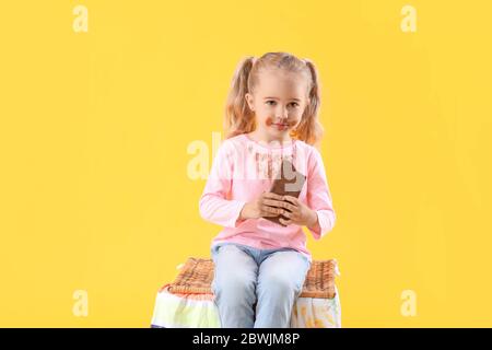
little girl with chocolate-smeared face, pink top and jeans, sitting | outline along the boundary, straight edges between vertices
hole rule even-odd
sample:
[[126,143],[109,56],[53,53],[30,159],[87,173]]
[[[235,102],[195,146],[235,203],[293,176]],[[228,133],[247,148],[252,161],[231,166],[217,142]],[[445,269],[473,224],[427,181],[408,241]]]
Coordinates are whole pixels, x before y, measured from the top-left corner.
[[[336,215],[315,148],[319,83],[315,66],[286,52],[244,59],[225,109],[225,140],[200,198],[200,215],[223,230],[212,240],[212,291],[223,328],[290,327],[315,240]],[[288,160],[305,175],[298,197],[270,192]],[[266,218],[280,217],[279,223]]]

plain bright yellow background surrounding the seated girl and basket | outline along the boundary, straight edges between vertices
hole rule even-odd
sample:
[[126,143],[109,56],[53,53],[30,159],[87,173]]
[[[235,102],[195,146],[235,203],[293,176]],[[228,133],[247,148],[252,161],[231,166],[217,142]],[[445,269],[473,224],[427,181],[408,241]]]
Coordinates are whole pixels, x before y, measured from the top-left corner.
[[[89,32],[72,28],[89,10]],[[417,9],[417,32],[400,30]],[[208,257],[204,180],[247,55],[315,61],[343,327],[492,326],[489,1],[8,1],[0,11],[0,326],[149,327]],[[75,290],[89,316],[72,314]],[[417,293],[417,316],[400,313]]]

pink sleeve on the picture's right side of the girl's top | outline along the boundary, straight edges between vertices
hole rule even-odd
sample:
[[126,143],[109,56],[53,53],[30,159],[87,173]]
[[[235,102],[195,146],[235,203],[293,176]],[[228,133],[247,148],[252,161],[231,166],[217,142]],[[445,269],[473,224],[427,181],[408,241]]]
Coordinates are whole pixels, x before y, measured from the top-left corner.
[[320,240],[333,229],[336,214],[325,174],[325,165],[317,149],[313,149],[308,162],[307,205],[316,211],[320,231],[307,229],[315,240]]

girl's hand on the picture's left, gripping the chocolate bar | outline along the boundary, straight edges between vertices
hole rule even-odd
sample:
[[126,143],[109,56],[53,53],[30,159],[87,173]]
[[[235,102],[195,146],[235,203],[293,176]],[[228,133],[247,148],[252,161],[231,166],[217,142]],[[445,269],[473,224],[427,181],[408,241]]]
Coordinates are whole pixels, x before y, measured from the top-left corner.
[[285,213],[288,212],[285,208],[291,205],[286,201],[283,201],[282,197],[283,196],[279,196],[273,192],[262,192],[257,199],[247,202],[243,207],[239,218],[242,220],[246,220],[265,217],[273,218],[279,214],[285,215]]

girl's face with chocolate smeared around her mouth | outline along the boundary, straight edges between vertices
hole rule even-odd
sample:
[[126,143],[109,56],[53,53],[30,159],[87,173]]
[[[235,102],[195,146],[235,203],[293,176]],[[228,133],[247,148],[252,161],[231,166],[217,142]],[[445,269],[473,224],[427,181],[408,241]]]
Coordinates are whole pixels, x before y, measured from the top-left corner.
[[307,80],[301,73],[279,69],[260,72],[259,82],[246,101],[256,115],[255,132],[265,141],[289,140],[289,132],[300,122],[309,100]]

